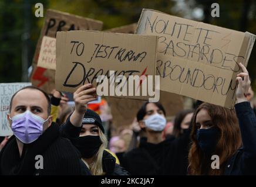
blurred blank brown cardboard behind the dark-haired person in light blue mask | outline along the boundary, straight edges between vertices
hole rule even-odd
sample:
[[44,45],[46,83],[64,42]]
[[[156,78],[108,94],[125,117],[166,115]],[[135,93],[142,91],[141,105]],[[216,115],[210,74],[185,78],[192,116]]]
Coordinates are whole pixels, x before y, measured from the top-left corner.
[[[114,127],[129,126],[145,101],[123,98],[106,98],[113,116]],[[169,119],[183,109],[183,97],[175,93],[160,91],[160,101]]]

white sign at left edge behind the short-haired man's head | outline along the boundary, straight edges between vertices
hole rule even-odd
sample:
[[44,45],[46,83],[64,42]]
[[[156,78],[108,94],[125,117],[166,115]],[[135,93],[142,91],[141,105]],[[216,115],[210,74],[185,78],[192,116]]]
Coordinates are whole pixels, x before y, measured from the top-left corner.
[[31,82],[17,82],[17,83],[1,83],[0,96],[1,96],[1,115],[0,115],[0,136],[12,135],[7,115],[9,113],[9,105],[12,95],[19,89],[31,85]]

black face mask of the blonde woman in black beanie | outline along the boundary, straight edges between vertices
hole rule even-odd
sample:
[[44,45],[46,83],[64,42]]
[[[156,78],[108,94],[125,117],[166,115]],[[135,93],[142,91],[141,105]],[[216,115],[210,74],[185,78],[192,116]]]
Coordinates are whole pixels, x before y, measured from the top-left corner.
[[73,139],[72,143],[78,148],[82,158],[92,158],[102,145],[100,136],[81,136]]

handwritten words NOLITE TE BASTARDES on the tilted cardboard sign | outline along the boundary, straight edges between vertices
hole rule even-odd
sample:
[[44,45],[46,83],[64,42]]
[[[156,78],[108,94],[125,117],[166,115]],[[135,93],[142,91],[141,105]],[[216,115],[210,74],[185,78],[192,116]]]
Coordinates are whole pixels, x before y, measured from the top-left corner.
[[[235,56],[235,54],[227,53],[227,50],[223,49],[231,41],[227,39],[230,37],[230,33],[221,39],[224,41],[221,49],[216,49],[211,47],[213,34],[220,34],[216,30],[197,28],[186,23],[170,23],[169,20],[160,19],[158,16],[152,21],[147,17],[144,30],[147,29],[147,26],[151,33],[161,34],[159,36],[159,49],[162,49],[159,53],[161,54],[183,57],[193,61],[203,61],[234,72],[240,71],[238,64],[243,63],[244,56]],[[215,37],[218,37],[218,35]],[[193,40],[196,43],[191,43],[192,38],[196,39]],[[176,39],[180,40],[176,41]]]

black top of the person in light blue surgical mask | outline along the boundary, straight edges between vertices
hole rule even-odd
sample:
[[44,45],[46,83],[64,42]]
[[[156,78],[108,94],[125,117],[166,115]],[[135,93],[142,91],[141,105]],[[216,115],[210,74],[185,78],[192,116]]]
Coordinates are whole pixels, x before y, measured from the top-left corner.
[[123,155],[122,167],[131,175],[186,175],[190,131],[159,144],[141,141],[138,148]]

